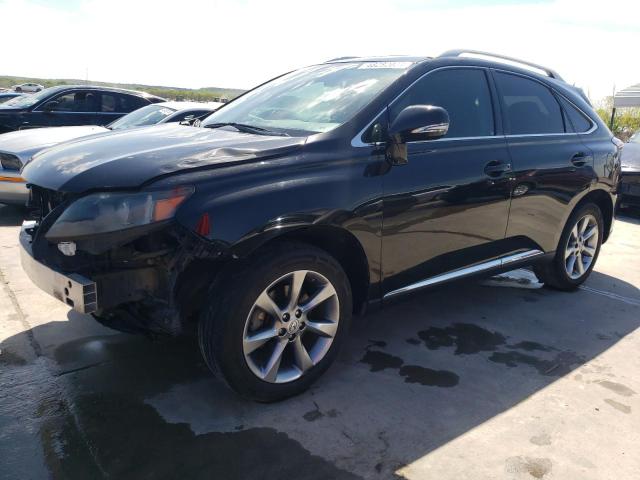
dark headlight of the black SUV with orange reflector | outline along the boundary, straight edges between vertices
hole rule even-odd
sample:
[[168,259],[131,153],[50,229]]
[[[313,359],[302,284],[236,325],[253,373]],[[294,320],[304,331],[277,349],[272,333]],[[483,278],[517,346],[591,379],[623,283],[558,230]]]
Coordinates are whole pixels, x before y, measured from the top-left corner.
[[136,193],[94,193],[74,201],[45,234],[47,240],[81,240],[171,220],[193,187]]

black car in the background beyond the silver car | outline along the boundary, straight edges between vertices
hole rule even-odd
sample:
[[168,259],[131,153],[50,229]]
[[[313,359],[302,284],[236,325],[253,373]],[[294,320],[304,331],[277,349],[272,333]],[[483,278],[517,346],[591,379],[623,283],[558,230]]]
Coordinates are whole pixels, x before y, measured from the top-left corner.
[[145,105],[164,101],[133,90],[61,85],[0,104],[0,133],[38,127],[107,125]]

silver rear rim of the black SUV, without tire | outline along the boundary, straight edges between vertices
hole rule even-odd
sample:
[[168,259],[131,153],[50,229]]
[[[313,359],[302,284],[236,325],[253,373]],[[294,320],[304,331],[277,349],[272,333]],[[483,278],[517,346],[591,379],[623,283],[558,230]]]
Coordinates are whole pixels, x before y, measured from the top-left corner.
[[573,226],[564,252],[565,270],[573,280],[588,270],[598,249],[598,222],[587,214]]

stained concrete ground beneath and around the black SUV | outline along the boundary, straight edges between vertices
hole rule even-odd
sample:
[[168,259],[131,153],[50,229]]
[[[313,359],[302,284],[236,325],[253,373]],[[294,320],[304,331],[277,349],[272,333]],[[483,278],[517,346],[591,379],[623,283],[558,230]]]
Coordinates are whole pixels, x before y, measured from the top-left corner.
[[640,222],[574,293],[527,272],[355,319],[312,389],[247,402],[193,340],[40,292],[0,206],[1,478],[602,479],[640,471]]

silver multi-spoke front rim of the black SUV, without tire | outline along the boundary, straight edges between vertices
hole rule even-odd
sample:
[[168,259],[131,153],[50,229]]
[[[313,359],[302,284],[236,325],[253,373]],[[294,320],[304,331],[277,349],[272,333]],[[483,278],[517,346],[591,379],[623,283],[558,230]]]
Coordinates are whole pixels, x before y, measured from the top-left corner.
[[247,316],[247,365],[265,382],[297,380],[327,354],[339,320],[338,294],[325,276],[311,270],[283,275],[262,291]]

